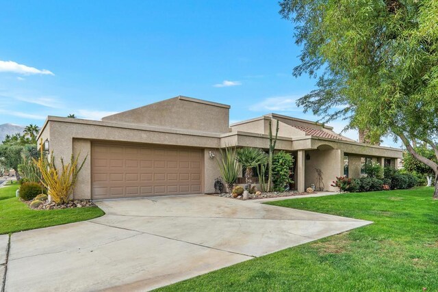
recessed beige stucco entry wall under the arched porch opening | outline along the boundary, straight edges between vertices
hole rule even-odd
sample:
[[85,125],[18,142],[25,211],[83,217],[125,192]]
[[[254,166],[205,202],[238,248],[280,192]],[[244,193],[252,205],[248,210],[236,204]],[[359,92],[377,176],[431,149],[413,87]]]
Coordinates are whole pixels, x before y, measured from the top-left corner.
[[344,174],[344,155],[340,150],[307,150],[305,155],[310,155],[310,160],[305,159],[305,187],[310,187],[313,183],[318,188],[318,174],[315,168],[322,170],[322,182],[324,190],[337,191],[336,187],[331,187],[332,181],[336,176]]

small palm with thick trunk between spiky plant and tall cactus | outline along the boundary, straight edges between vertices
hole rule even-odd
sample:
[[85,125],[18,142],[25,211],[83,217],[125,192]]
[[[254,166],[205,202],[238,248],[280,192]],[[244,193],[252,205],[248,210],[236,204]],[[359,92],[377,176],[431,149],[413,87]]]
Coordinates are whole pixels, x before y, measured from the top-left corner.
[[244,147],[237,150],[236,160],[246,168],[246,187],[250,189],[251,183],[253,183],[253,168],[268,163],[268,155],[259,148]]

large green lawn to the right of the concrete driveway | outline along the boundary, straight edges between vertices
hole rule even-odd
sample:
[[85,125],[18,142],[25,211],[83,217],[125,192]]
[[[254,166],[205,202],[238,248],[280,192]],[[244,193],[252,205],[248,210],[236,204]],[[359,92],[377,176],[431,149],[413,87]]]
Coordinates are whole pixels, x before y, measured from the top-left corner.
[[233,265],[158,291],[438,291],[432,188],[269,204],[374,224]]

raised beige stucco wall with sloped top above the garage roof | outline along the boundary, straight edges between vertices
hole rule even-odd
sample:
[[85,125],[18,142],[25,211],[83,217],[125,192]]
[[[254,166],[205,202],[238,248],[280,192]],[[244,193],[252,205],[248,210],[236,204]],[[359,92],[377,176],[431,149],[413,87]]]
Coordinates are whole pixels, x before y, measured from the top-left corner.
[[229,106],[177,96],[102,118],[103,121],[155,125],[211,133],[229,132]]

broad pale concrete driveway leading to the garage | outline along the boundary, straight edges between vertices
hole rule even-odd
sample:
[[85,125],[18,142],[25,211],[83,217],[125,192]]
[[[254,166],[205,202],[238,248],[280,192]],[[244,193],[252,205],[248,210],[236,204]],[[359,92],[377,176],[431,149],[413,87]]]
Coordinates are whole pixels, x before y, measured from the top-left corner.
[[97,204],[105,216],[14,233],[5,291],[145,291],[370,224],[205,195]]

